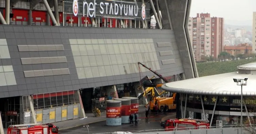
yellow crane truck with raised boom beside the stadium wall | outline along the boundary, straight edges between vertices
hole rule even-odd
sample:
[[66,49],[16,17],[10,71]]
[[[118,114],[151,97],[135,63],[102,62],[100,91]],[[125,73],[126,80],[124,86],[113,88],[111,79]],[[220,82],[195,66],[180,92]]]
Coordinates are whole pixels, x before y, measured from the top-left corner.
[[[153,72],[156,76],[161,78],[164,82],[169,82],[166,80],[161,74],[158,72],[152,70],[151,68],[148,68],[146,65],[142,64],[141,62],[138,62],[138,65],[142,65],[144,68],[148,69],[149,71]],[[149,109],[151,111],[159,111],[159,112],[167,112],[169,110],[176,110],[176,93],[171,93],[171,97],[160,97],[164,92],[158,93],[156,90],[157,88],[160,88],[162,86],[162,83],[145,83],[144,87],[147,87],[144,92],[138,96],[138,98],[142,98],[143,96],[147,96],[149,94],[150,100],[149,100]],[[148,104],[146,104],[147,106]]]

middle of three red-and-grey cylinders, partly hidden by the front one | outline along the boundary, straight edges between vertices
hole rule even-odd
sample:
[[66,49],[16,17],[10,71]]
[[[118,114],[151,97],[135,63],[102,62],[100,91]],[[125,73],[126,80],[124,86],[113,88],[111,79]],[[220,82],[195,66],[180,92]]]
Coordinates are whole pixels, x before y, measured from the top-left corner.
[[114,98],[114,100],[120,100],[122,104],[121,116],[122,123],[130,123],[129,117],[131,115],[131,100],[124,98]]

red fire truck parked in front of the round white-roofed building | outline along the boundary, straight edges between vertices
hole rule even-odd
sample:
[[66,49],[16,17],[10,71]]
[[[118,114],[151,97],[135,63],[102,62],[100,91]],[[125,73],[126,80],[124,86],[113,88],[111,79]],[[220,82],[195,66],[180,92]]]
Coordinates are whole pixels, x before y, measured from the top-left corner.
[[[210,123],[208,120],[181,118],[168,119],[161,122],[161,126],[165,131],[188,130],[188,129],[209,129]],[[182,129],[183,128],[183,129]]]

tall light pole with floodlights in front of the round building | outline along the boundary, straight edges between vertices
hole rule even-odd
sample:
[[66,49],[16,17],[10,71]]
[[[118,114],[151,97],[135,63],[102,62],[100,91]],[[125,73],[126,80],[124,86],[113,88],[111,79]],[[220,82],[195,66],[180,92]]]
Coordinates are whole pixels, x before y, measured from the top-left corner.
[[248,78],[244,79],[233,79],[234,82],[237,83],[237,85],[241,85],[241,119],[240,119],[240,125],[241,125],[241,134],[242,134],[242,127],[243,127],[243,85],[247,85]]

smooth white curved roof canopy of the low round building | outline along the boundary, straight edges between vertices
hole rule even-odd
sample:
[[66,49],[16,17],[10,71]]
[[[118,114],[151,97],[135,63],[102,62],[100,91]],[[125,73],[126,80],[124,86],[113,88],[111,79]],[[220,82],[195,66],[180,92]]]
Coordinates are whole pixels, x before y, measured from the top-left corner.
[[163,84],[162,89],[185,94],[240,96],[241,86],[233,78],[248,78],[247,85],[242,87],[243,95],[256,96],[256,75],[237,72],[169,82]]

